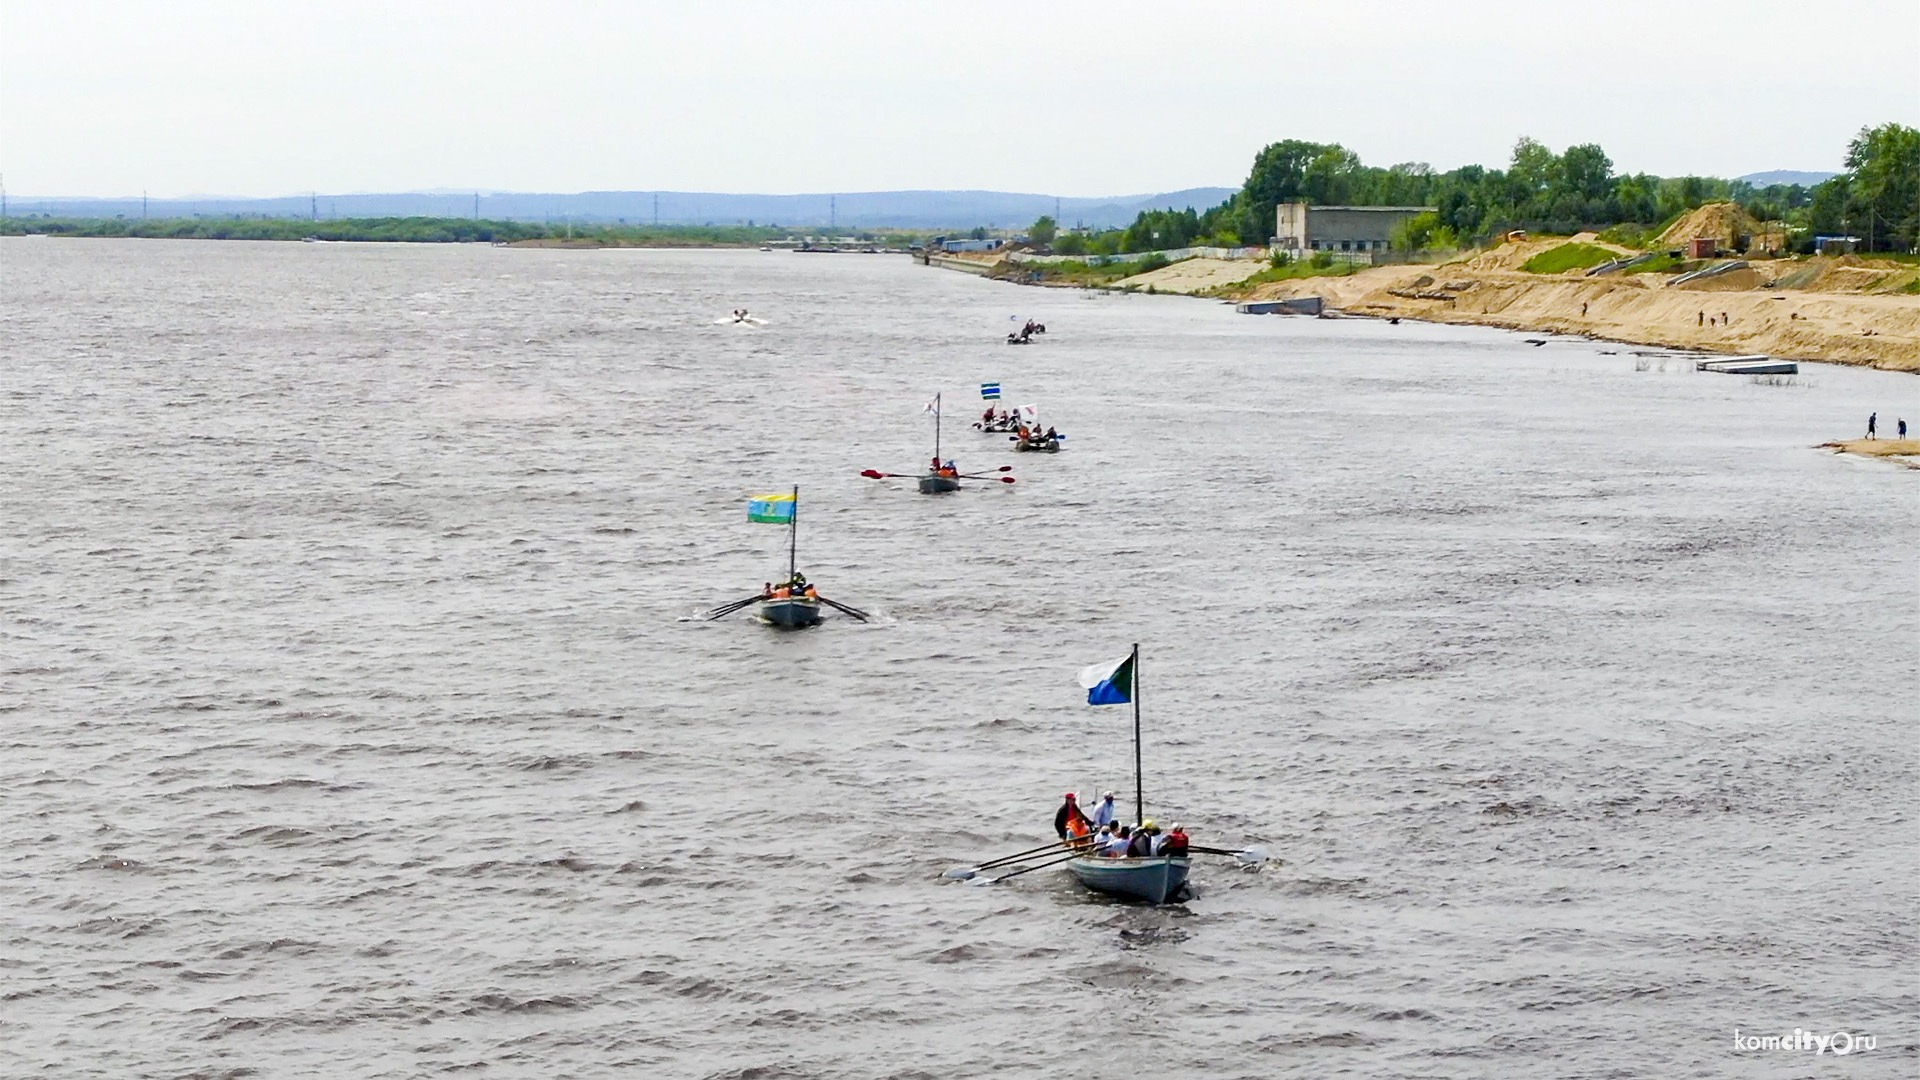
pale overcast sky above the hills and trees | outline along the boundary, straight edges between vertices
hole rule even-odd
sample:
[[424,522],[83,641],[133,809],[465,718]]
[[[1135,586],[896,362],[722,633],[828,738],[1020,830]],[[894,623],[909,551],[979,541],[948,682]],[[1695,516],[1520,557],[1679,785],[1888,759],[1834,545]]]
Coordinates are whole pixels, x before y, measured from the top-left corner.
[[[1859,58],[1866,42],[1905,42]],[[1920,0],[0,0],[15,194],[1236,186],[1371,165],[1837,169],[1920,125]]]

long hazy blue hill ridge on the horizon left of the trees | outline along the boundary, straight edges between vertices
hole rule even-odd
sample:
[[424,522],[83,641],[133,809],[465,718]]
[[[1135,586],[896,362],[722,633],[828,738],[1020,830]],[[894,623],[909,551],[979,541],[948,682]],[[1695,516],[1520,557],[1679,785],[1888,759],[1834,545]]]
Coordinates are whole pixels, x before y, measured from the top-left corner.
[[[492,221],[651,223],[660,225],[795,225],[845,229],[1020,229],[1058,206],[1060,225],[1116,227],[1142,209],[1206,209],[1235,188],[1187,188],[1162,194],[1056,198],[1050,194],[910,190],[837,194],[720,194],[720,192],[396,192],[317,194],[288,198],[156,198],[148,217],[261,215],[261,217],[486,217]],[[138,198],[12,196],[8,213],[54,217],[140,217]]]

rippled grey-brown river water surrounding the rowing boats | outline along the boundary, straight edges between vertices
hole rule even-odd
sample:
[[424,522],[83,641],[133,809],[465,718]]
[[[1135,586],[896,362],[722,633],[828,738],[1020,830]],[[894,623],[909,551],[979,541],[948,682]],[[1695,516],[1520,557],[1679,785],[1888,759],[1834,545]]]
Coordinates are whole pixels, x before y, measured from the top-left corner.
[[[1920,380],[785,252],[0,300],[4,1076],[1920,1072],[1920,475],[1811,448]],[[935,392],[1018,484],[858,477]],[[697,621],[793,484],[876,621]],[[1131,799],[1133,642],[1148,813],[1279,861],[943,882]]]

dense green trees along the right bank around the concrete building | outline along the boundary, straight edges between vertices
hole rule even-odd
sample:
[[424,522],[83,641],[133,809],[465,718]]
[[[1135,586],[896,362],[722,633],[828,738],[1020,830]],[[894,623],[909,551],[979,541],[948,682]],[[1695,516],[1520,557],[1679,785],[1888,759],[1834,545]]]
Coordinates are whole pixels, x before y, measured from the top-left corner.
[[[1849,142],[1847,171],[1814,186],[1718,177],[1615,173],[1599,144],[1555,154],[1534,138],[1513,146],[1505,169],[1463,165],[1436,173],[1421,161],[1361,163],[1338,142],[1286,138],[1261,150],[1246,183],[1204,211],[1150,209],[1123,229],[1062,234],[1060,254],[1125,254],[1188,246],[1261,246],[1273,236],[1281,202],[1315,206],[1430,206],[1415,246],[1457,246],[1511,229],[1578,233],[1640,225],[1653,231],[1707,202],[1736,202],[1761,221],[1784,221],[1799,250],[1814,234],[1855,234],[1872,250],[1912,252],[1920,244],[1920,131],[1885,123]],[[1052,231],[1052,219],[1035,223]],[[1035,233],[1039,238],[1039,233]]]

